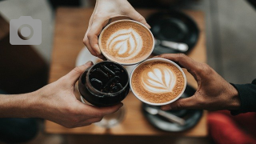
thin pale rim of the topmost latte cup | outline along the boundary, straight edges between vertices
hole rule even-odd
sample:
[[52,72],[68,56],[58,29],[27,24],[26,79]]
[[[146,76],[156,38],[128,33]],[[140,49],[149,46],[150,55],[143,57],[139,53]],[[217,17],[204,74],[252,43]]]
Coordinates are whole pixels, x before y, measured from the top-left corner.
[[[102,42],[102,34],[103,32],[110,26],[114,25],[115,23],[118,23],[118,22],[135,22],[135,23],[138,23],[140,26],[143,26],[144,28],[146,28],[146,30],[148,30],[150,32],[150,35],[151,35],[151,38],[152,38],[152,47],[151,47],[151,50],[150,50],[150,53],[148,54],[148,56],[146,58],[149,58],[150,57],[150,54],[152,54],[153,50],[154,50],[154,35],[152,34],[152,32],[150,31],[150,29],[148,29],[144,24],[142,24],[141,22],[137,22],[137,21],[134,21],[134,20],[130,20],[130,19],[121,19],[121,20],[118,20],[118,21],[114,21],[114,22],[111,22],[109,25],[107,25],[106,27],[104,27],[104,29],[102,30],[101,34],[99,34],[98,36],[98,47],[99,47],[99,50],[101,50],[102,54],[104,55],[104,57],[106,57],[106,59],[110,60],[111,62],[117,62],[117,61],[114,61],[113,58],[110,58],[103,50],[102,50],[102,46],[100,45],[100,43]],[[131,65],[136,65],[140,62],[143,62],[146,60],[145,59],[142,59],[141,61],[139,62],[133,62],[133,63],[123,63],[123,62],[117,62],[123,66],[131,66]]]

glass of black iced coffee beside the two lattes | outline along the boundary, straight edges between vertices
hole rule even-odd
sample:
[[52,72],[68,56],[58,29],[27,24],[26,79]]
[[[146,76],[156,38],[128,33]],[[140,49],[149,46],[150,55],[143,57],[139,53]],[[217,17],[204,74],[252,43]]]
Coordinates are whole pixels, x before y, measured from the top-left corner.
[[99,62],[79,78],[82,98],[94,106],[114,106],[130,91],[129,74],[115,62]]

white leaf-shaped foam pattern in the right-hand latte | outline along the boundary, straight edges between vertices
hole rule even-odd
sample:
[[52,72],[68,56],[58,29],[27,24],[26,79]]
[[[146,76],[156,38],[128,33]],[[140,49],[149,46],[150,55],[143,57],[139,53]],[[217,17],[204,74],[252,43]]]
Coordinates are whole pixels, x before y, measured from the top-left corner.
[[142,86],[152,93],[172,92],[176,76],[167,67],[152,68],[142,74]]

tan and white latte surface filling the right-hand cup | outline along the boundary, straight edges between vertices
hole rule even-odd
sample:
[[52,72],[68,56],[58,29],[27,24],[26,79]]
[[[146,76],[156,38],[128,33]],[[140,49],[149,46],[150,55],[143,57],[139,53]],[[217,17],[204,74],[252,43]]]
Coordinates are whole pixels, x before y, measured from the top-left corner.
[[134,94],[146,102],[165,103],[178,98],[186,87],[184,73],[168,60],[142,62],[130,78]]

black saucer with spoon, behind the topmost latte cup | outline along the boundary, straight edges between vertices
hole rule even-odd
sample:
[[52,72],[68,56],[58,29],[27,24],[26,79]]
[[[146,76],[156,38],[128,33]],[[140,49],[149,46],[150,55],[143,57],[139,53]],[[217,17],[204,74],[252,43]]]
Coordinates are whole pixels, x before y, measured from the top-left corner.
[[[151,32],[154,38],[170,42],[186,43],[189,49],[188,53],[198,42],[199,30],[197,24],[188,15],[177,10],[168,10],[150,15],[147,22],[151,26]],[[178,50],[172,50],[165,46],[154,46],[154,54],[181,53]]]

